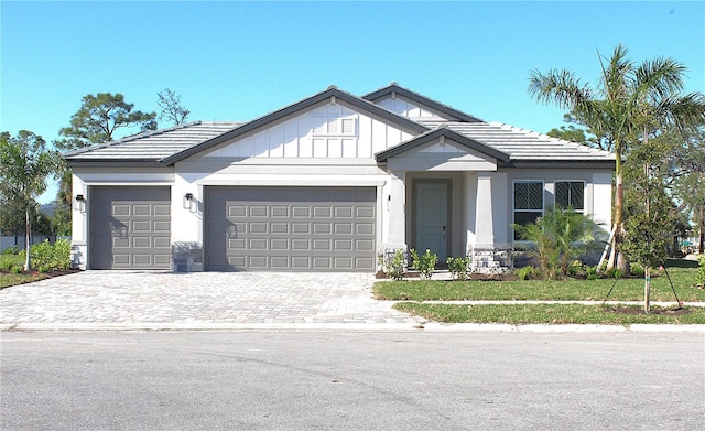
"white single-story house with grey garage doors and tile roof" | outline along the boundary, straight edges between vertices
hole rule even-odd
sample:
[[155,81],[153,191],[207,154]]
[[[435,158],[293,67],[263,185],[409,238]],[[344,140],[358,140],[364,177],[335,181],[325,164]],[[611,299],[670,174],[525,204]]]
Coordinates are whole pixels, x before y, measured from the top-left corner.
[[392,83],[335,86],[249,122],[189,122],[82,149],[85,269],[370,271],[395,249],[505,265],[573,206],[609,229],[614,154],[486,122]]

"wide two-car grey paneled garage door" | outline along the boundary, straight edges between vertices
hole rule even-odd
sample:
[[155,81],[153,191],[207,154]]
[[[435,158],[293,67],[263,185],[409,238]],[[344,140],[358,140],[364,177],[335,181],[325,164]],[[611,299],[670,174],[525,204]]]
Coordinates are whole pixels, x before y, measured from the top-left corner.
[[373,271],[373,187],[230,187],[205,193],[212,271]]

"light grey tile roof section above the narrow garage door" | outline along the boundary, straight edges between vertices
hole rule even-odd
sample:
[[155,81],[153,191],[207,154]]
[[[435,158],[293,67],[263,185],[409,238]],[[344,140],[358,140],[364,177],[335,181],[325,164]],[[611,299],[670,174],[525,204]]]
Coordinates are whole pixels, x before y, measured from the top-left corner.
[[193,146],[216,138],[242,122],[231,121],[194,121],[167,129],[160,129],[139,134],[132,134],[117,141],[84,148],[65,154],[72,161],[153,161],[184,151]]

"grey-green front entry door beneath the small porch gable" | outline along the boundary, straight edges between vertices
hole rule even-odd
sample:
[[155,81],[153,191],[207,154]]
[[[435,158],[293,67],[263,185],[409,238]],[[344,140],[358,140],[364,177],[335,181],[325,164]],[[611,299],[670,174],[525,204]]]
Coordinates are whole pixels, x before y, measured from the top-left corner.
[[448,238],[448,183],[416,183],[416,251],[431,250],[445,262]]

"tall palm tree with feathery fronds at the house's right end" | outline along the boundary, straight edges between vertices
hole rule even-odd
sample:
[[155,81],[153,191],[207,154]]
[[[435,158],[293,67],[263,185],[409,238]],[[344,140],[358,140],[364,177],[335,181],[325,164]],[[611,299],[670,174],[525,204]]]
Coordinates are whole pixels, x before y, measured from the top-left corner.
[[[685,66],[665,57],[636,65],[627,58],[627,49],[619,45],[611,57],[598,54],[600,80],[592,88],[566,69],[542,74],[533,71],[529,93],[538,101],[554,103],[570,109],[600,139],[612,143],[615,152],[615,236],[608,267],[618,266],[625,273],[629,266],[623,258],[622,163],[629,147],[643,133],[669,128],[686,129],[705,121],[705,96],[699,93],[681,95]],[[607,62],[605,62],[605,60]]]

